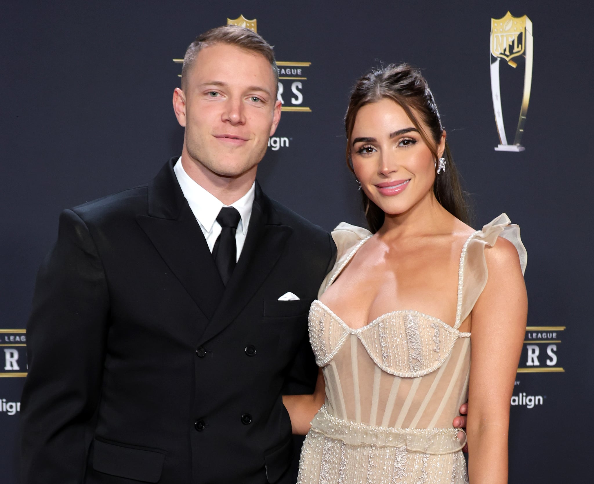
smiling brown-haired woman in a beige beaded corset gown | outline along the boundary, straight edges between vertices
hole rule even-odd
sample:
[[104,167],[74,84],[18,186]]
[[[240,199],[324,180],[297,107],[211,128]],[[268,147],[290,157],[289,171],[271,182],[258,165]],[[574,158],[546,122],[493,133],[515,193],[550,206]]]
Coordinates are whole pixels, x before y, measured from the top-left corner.
[[[294,432],[309,429],[298,482],[505,483],[527,312],[519,227],[505,214],[482,230],[465,223],[418,71],[359,79],[345,123],[371,231],[332,232],[336,265],[309,313],[324,405],[285,397]],[[451,426],[467,398],[468,471],[466,435]]]

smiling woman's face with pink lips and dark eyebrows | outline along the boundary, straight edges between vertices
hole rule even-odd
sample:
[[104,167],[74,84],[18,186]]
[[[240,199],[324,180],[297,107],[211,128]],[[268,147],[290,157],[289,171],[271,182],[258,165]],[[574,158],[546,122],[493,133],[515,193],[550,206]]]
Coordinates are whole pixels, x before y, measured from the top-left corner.
[[[413,111],[431,139],[431,131]],[[404,213],[433,196],[435,160],[406,112],[391,99],[359,109],[351,134],[351,159],[365,194],[387,215]],[[437,146],[441,156],[445,131]]]

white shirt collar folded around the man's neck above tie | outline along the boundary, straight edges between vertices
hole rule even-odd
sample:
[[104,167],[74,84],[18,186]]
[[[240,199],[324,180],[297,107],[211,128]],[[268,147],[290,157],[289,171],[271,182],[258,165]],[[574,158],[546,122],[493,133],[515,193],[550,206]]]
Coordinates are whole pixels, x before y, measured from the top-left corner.
[[255,182],[249,188],[248,193],[241,197],[241,199],[233,202],[231,205],[225,205],[212,193],[206,190],[206,188],[198,185],[190,176],[186,173],[182,166],[182,158],[179,157],[173,166],[173,171],[178,179],[179,186],[184,193],[184,197],[188,200],[189,208],[194,213],[194,216],[200,222],[200,225],[204,227],[204,230],[210,232],[213,230],[214,222],[219,215],[220,210],[223,207],[233,207],[237,209],[239,215],[241,215],[241,221],[239,221],[237,230],[245,235],[248,232],[249,218],[252,215],[252,205],[254,205],[255,196]]

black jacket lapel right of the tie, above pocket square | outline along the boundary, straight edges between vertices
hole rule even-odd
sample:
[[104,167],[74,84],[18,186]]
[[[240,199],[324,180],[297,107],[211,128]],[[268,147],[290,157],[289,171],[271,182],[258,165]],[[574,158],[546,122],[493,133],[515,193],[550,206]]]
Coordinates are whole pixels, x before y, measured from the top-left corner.
[[291,232],[290,227],[280,225],[270,200],[256,184],[244,248],[201,342],[223,331],[249,303],[279,260]]

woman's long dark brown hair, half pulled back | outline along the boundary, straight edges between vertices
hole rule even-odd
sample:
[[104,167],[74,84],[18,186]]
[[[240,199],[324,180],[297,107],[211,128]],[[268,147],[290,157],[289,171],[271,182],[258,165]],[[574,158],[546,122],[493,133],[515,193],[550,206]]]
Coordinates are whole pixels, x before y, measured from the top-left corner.
[[[437,145],[440,142],[443,126],[441,125],[440,114],[437,111],[435,99],[429,89],[429,85],[421,73],[408,64],[390,64],[386,67],[371,70],[356,82],[353,92],[350,95],[349,108],[345,116],[346,130],[346,163],[350,171],[353,170],[350,153],[351,135],[357,112],[363,106],[377,102],[381,99],[391,99],[399,104],[421,134],[425,144],[431,150],[434,159],[437,160]],[[429,139],[427,133],[413,113],[413,109],[419,113],[422,121],[429,127]],[[445,142],[443,154],[446,162],[445,171],[435,177],[433,193],[441,206],[461,221],[469,224],[469,206],[466,203],[465,194],[460,186],[460,180],[454,160],[452,159],[450,147]],[[369,230],[375,234],[384,224],[384,212],[361,190],[365,218]]]

